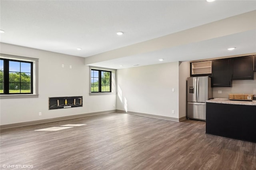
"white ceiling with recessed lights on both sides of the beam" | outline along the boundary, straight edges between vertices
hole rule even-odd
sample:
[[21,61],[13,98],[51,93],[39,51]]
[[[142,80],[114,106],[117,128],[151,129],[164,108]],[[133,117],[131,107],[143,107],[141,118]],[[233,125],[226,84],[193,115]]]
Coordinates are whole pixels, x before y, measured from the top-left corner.
[[[0,30],[5,33],[0,42],[89,57],[253,10],[255,0],[1,0]],[[230,46],[237,48],[227,51]],[[119,69],[120,64],[156,64],[159,58],[192,61],[255,52],[256,30],[251,30],[90,65]]]

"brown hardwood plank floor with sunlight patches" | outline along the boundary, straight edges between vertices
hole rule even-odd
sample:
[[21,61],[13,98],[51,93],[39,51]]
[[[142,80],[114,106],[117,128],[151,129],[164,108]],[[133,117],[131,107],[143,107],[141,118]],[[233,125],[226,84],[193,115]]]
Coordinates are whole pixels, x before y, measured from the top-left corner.
[[[66,124],[87,125],[34,131]],[[205,134],[204,121],[110,113],[2,129],[0,136],[0,169],[256,170],[256,143]]]

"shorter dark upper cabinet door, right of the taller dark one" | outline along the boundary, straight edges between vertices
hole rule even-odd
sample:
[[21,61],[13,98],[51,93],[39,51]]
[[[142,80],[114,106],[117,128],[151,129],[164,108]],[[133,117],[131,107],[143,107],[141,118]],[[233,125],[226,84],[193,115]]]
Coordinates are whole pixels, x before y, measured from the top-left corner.
[[253,79],[253,56],[232,58],[232,80]]

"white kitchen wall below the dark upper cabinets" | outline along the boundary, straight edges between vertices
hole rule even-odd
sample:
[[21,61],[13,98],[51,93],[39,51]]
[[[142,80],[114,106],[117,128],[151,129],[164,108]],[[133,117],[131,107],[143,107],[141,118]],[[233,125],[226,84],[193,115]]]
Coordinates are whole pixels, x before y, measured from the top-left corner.
[[[218,94],[219,90],[222,91],[221,94]],[[214,98],[228,99],[229,93],[252,93],[256,97],[256,72],[253,80],[233,80],[232,87],[214,87],[212,93]]]

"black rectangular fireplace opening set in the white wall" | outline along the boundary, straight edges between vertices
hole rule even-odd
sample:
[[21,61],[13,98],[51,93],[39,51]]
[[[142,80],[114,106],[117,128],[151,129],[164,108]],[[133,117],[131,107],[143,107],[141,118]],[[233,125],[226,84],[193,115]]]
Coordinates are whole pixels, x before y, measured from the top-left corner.
[[63,109],[70,107],[82,107],[83,97],[49,97],[49,110],[51,109]]

